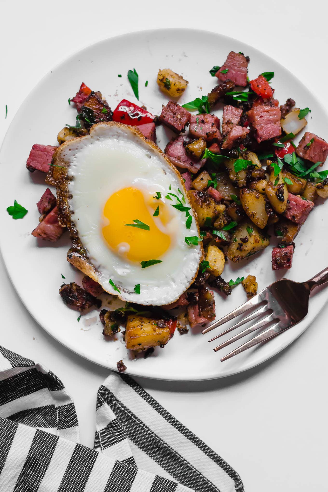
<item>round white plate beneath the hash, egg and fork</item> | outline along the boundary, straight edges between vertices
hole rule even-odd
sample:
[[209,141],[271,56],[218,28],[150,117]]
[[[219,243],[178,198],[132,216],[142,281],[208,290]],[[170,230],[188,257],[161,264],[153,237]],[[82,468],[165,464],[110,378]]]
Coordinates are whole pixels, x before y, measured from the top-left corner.
[[[65,123],[74,124],[76,111],[68,105],[67,99],[75,94],[82,81],[93,90],[101,91],[114,109],[124,97],[137,102],[126,77],[127,70],[135,67],[139,73],[140,105],[146,104],[150,111],[159,114],[167,98],[157,88],[158,68],[169,67],[189,80],[180,100],[184,103],[207,94],[214,87],[216,79],[210,76],[209,69],[222,64],[231,50],[242,51],[250,57],[250,78],[264,71],[274,71],[275,97],[281,103],[293,97],[299,107],[311,108],[308,129],[328,140],[327,115],[322,105],[286,68],[237,40],[205,31],[180,29],[126,34],[73,55],[44,77],[10,125],[0,152],[0,246],[6,268],[18,295],[35,320],[63,345],[90,361],[116,369],[117,361],[122,359],[127,373],[158,379],[222,377],[254,367],[277,354],[305,330],[326,302],[326,292],[318,292],[311,299],[306,319],[298,326],[224,363],[220,362],[220,353],[213,352],[213,344],[208,343],[213,332],[203,336],[200,328],[189,330],[183,336],[176,333],[163,350],[157,348],[146,360],[131,360],[121,335],[118,341],[105,340],[98,318],[96,324],[85,325],[85,319],[92,318],[95,312],[82,316],[77,322],[78,313],[62,303],[58,293],[62,282],[60,274],[66,277],[66,282],[77,281],[80,285],[82,278],[65,259],[70,246],[68,234],[55,244],[38,242],[30,235],[38,223],[35,204],[46,186],[43,174],[30,174],[26,170],[26,159],[34,143],[56,145],[58,131]],[[122,77],[118,78],[118,74]],[[146,80],[149,81],[147,88]],[[220,117],[220,111],[215,113]],[[170,132],[158,127],[157,143],[162,149],[170,137]],[[22,220],[13,220],[6,212],[14,199],[29,210]],[[302,226],[291,271],[272,272],[271,247],[268,247],[263,254],[239,265],[227,264],[223,277],[229,280],[254,274],[260,290],[283,275],[299,281],[312,277],[326,266],[321,254],[328,237],[325,216],[322,206],[317,207]],[[223,316],[245,300],[241,285],[228,298],[217,294],[217,316]],[[19,325],[22,323],[24,320]],[[225,354],[229,349],[222,352]]]

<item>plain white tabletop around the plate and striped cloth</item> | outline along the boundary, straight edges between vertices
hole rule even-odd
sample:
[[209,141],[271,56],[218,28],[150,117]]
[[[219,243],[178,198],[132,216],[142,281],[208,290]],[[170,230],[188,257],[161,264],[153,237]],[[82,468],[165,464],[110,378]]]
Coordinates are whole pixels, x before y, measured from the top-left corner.
[[[189,0],[173,8],[145,0],[0,0],[0,139],[53,66],[95,41],[142,29],[201,28],[245,40],[286,65],[318,96],[319,80],[324,82],[327,98],[327,3]],[[45,114],[45,124],[49,118]],[[36,324],[2,263],[0,282],[0,344],[40,361],[62,379],[76,404],[81,442],[92,446],[96,392],[108,370],[71,353]],[[326,307],[284,352],[246,373],[201,383],[138,382],[239,472],[246,492],[325,491],[327,315]]]

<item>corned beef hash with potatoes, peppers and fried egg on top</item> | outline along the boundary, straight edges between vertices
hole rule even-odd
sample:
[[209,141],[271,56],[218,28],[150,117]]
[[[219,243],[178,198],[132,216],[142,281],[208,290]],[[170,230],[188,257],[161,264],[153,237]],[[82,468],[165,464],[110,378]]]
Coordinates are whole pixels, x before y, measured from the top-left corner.
[[[99,316],[105,337],[125,328],[128,349],[148,355],[177,327],[183,334],[213,321],[212,289],[224,297],[242,283],[253,296],[256,277],[224,280],[224,265],[259,253],[270,239],[272,269],[290,269],[300,227],[317,198],[328,197],[328,171],[318,170],[328,143],[304,133],[311,110],[292,98],[280,104],[274,73],[250,80],[248,64],[243,53],[230,52],[209,70],[218,85],[182,105],[188,82],[159,70],[157,84],[170,98],[159,116],[126,99],[112,111],[82,83],[68,100],[76,125],[60,130],[59,147],[30,151],[28,170],[46,173],[57,191],[56,198],[47,188],[37,203],[32,235],[57,241],[68,229],[67,260],[85,275],[83,287],[62,284],[60,296],[80,312],[100,309],[104,291],[125,301]],[[127,78],[139,99],[137,71]],[[213,113],[220,108],[221,125]],[[157,125],[175,132],[164,152],[155,143]],[[13,218],[27,213],[16,201],[7,210]]]

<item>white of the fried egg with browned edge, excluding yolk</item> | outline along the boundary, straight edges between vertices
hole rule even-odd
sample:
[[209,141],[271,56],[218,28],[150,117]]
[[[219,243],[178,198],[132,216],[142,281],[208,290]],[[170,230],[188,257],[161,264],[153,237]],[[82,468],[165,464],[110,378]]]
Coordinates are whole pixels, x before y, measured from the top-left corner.
[[[184,190],[179,174],[131,128],[115,124],[94,126],[90,135],[67,147],[63,158],[69,164],[71,219],[104,290],[118,294],[109,283],[112,279],[120,290],[119,297],[125,301],[144,305],[174,302],[195,277],[202,254],[200,245],[188,246],[184,239],[199,235],[192,209],[192,224],[186,229],[185,214],[170,207],[175,201],[164,198],[170,185],[172,193],[178,194],[178,188]],[[114,252],[102,234],[106,201],[113,193],[130,186],[140,189],[145,196],[161,191],[161,200],[173,213],[169,224],[171,246],[160,257],[162,263],[144,269]],[[185,199],[190,206],[186,195]],[[161,227],[160,220],[156,221]],[[145,257],[149,259],[152,258]],[[140,284],[140,294],[134,292],[136,284]]]

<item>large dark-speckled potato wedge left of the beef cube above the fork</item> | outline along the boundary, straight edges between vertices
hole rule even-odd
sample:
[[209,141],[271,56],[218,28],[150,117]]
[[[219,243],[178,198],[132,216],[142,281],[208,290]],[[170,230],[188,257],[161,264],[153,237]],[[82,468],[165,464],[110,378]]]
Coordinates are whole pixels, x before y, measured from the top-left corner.
[[[252,229],[251,234],[249,234],[250,229]],[[247,238],[247,241],[243,242],[245,238]],[[227,257],[236,263],[247,256],[261,251],[261,249],[266,248],[269,244],[269,239],[262,234],[256,225],[250,220],[245,220],[238,225],[232,236],[227,249]]]

